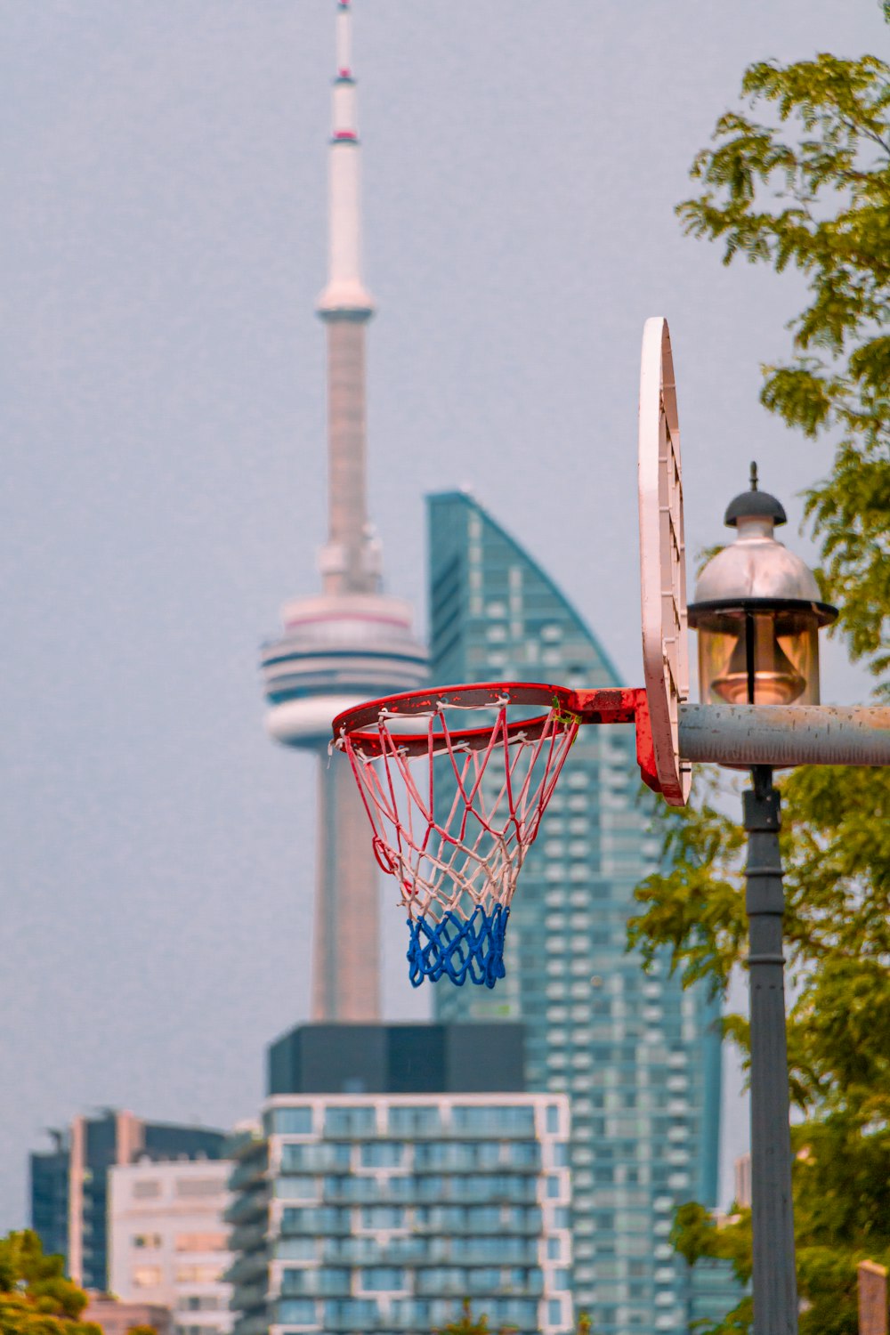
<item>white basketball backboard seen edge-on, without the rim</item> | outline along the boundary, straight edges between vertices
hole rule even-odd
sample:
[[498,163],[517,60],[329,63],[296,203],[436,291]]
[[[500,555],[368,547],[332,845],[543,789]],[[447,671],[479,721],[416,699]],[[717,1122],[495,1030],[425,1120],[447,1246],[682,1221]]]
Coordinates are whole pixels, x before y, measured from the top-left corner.
[[643,677],[655,769],[664,801],[685,806],[691,766],[681,762],[679,706],[689,697],[686,543],[681,437],[667,320],[643,327],[639,372],[639,558]]

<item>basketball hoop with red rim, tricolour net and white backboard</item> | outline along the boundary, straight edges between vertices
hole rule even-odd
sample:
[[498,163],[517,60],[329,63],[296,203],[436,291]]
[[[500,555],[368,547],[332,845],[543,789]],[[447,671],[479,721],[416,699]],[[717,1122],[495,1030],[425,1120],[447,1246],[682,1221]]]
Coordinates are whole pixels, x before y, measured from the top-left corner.
[[[448,977],[492,988],[504,976],[516,877],[580,724],[635,724],[644,782],[671,806],[689,797],[691,766],[679,753],[689,694],[683,490],[662,318],[643,332],[639,522],[646,689],[443,686],[374,700],[334,720],[332,746],[348,756],[374,853],[402,890],[414,987]],[[478,726],[464,726],[466,717],[455,726],[467,710]],[[412,720],[422,730],[410,732]]]

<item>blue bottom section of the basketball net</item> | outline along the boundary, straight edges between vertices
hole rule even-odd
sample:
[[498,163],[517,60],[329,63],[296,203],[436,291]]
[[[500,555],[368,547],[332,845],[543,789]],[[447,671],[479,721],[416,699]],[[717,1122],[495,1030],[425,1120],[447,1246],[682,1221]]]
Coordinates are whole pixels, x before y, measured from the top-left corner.
[[504,976],[503,944],[510,909],[496,904],[491,913],[476,905],[468,918],[447,912],[440,922],[408,918],[408,977],[419,988],[424,979],[451,979],[492,988]]

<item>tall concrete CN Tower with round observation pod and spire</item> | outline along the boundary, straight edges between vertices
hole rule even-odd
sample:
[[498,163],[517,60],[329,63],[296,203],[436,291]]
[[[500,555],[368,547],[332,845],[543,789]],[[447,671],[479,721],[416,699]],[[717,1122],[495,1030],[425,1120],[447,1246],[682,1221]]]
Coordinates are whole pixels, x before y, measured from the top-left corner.
[[[338,0],[330,143],[327,331],[328,539],[322,593],[283,609],[263,649],[267,729],[318,764],[312,1020],[380,1017],[378,865],[348,765],[328,758],[331,720],[352,704],[412,690],[427,655],[411,607],[382,591],[380,545],[367,510],[364,336],[374,300],[362,279],[362,212],[350,0]],[[320,461],[319,461],[320,465]]]

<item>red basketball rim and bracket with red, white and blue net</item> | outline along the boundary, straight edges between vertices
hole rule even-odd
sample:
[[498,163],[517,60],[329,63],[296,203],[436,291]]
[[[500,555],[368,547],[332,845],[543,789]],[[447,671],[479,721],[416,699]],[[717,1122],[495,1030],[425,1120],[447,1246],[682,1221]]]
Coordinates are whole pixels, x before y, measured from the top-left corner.
[[448,977],[492,988],[504,976],[516,877],[578,728],[634,721],[654,784],[644,692],[486,682],[391,696],[334,720],[376,860],[400,886],[414,987]]

